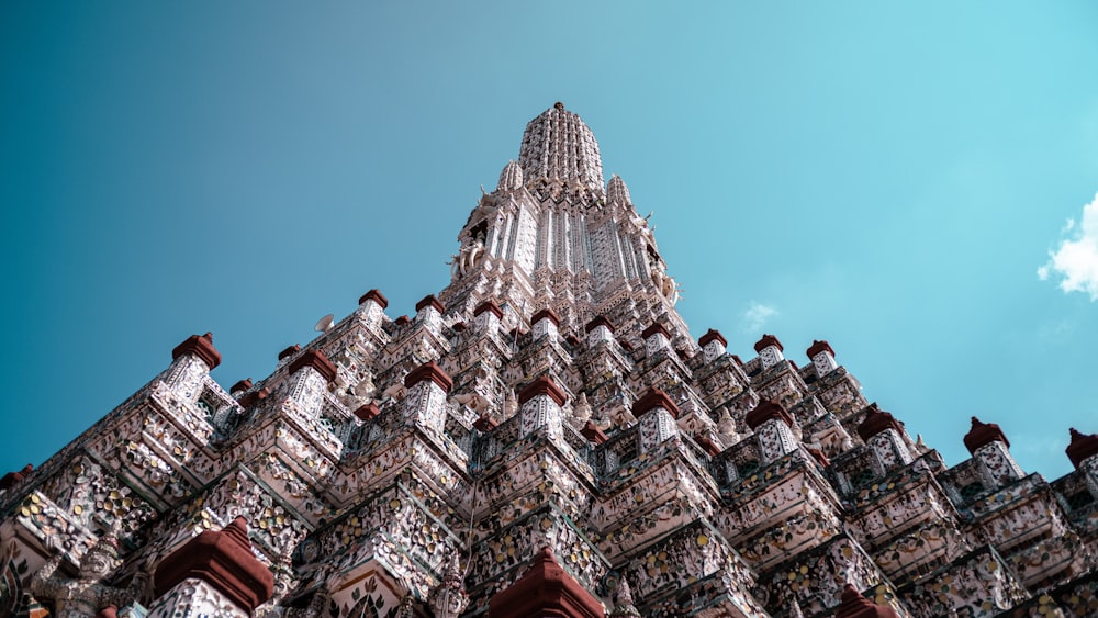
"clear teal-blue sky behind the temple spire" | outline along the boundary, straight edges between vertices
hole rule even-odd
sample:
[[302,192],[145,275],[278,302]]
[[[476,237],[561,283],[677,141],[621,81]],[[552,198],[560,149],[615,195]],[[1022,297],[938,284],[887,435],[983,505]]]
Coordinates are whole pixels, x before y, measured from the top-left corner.
[[[212,330],[261,378],[456,235],[563,101],[695,336],[826,338],[949,463],[1098,431],[1091,2],[0,4],[0,472]],[[1068,222],[1072,222],[1069,225]],[[1042,278],[1043,276],[1043,278]]]

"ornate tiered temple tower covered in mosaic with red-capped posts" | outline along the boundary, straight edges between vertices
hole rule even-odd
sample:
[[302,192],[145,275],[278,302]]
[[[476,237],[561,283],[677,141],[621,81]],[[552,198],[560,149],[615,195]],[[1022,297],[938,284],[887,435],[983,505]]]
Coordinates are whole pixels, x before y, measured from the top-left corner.
[[816,341],[696,341],[625,182],[557,103],[450,284],[370,290],[227,390],[210,334],[0,481],[9,616],[1098,616],[1098,435],[952,468]]

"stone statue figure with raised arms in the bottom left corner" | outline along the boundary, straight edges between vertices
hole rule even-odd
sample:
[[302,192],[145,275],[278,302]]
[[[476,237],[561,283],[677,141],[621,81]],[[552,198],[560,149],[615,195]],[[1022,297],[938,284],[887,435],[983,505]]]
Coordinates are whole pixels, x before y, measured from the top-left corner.
[[53,546],[52,549],[55,549],[57,554],[34,574],[30,591],[36,597],[52,599],[56,604],[57,618],[96,616],[109,605],[125,607],[144,596],[148,584],[148,574],[145,571],[138,571],[130,586],[125,588],[103,583],[119,562],[119,539],[113,530],[103,535],[85,552],[76,578],[55,575],[65,558],[65,552],[58,547],[56,537],[47,537],[46,544]]

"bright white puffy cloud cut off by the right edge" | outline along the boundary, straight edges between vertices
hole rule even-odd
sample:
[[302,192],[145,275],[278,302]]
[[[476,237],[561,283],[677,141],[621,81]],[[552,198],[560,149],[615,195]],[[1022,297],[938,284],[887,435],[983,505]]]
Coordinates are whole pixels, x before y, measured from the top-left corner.
[[1083,218],[1076,224],[1067,220],[1055,251],[1049,251],[1049,261],[1037,269],[1042,281],[1050,277],[1062,278],[1060,289],[1064,292],[1086,292],[1091,301],[1098,301],[1098,194],[1083,206]]

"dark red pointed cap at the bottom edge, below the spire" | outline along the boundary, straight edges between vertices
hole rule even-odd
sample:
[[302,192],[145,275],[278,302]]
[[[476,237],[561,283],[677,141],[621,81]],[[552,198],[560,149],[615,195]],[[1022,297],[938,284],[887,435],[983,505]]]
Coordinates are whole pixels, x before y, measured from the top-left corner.
[[530,569],[489,600],[492,618],[603,618],[606,608],[553,558],[547,547],[534,557]]

